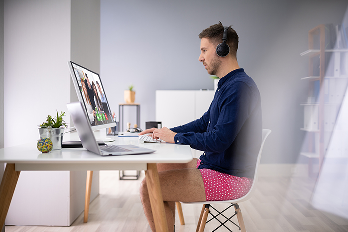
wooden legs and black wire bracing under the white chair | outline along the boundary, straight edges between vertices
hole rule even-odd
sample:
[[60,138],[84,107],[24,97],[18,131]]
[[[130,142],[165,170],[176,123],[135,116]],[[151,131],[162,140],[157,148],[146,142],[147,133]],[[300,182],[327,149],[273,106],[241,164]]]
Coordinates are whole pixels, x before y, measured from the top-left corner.
[[[225,211],[227,211],[228,209],[230,209],[231,207],[234,207],[235,208],[235,213],[231,216],[231,217],[229,217],[229,218],[227,218],[225,215],[223,215],[223,213],[225,212]],[[239,209],[239,206],[238,206],[238,204],[232,204],[231,203],[231,205],[230,206],[228,206],[226,209],[224,209],[223,211],[221,211],[221,212],[219,212],[217,209],[215,209],[213,206],[211,206],[210,204],[205,204],[205,212],[208,210],[208,213],[212,216],[212,218],[211,219],[209,219],[208,221],[206,221],[206,223],[208,223],[208,222],[210,222],[210,221],[212,221],[212,220],[217,220],[219,223],[220,223],[220,226],[218,226],[217,228],[215,228],[213,231],[211,231],[211,232],[214,232],[214,231],[216,231],[217,229],[219,229],[220,227],[222,227],[222,226],[224,226],[227,230],[229,230],[230,232],[233,232],[231,229],[229,229],[225,224],[227,223],[227,222],[231,222],[232,224],[234,224],[236,227],[238,227],[238,230],[240,231],[241,230],[241,227],[239,226],[239,225],[237,225],[236,223],[234,223],[233,221],[231,221],[231,219],[234,217],[234,216],[237,216],[237,219],[238,219],[238,222],[241,224],[241,223],[243,223],[244,224],[244,222],[240,222],[239,220],[240,220],[240,218],[238,217],[238,212],[237,211],[239,211],[239,213],[240,213],[240,209]],[[216,211],[216,213],[218,213],[218,214],[216,214],[216,215],[214,215],[211,211],[210,211],[210,208],[212,208],[212,209],[214,209],[215,211]],[[221,215],[221,216],[223,216],[226,220],[224,221],[224,222],[222,222],[221,220],[219,220],[217,217],[219,216],[219,215]],[[243,220],[243,219],[242,219]],[[203,224],[204,224],[204,227],[205,227],[205,224],[206,223],[204,223],[203,222]],[[243,227],[244,227],[244,225],[243,225]],[[199,229],[201,229],[201,228],[199,228]],[[198,230],[198,228],[197,228],[197,230]],[[204,229],[203,229],[204,230]],[[202,230],[199,230],[199,231],[202,231]],[[242,231],[244,231],[244,230],[242,230]]]

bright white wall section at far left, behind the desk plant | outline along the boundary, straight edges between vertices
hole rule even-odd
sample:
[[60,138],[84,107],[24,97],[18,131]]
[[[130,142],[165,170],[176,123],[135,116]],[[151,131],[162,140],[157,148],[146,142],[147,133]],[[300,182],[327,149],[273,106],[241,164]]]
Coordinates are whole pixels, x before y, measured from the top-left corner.
[[70,102],[70,0],[6,0],[4,7],[5,147],[35,144],[37,125]]

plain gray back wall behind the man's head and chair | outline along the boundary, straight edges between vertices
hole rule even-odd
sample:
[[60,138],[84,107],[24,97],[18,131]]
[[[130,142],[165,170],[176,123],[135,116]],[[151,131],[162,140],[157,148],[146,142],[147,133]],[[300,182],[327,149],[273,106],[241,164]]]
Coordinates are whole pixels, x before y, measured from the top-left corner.
[[[101,0],[100,73],[111,108],[133,84],[141,127],[155,119],[155,91],[213,89],[198,61],[198,34],[221,21],[233,25],[239,64],[257,83],[263,128],[273,132],[262,163],[294,163],[304,132],[308,31],[340,24],[346,0]],[[118,115],[118,114],[117,114]],[[165,125],[163,125],[165,126]],[[302,160],[306,161],[306,160]]]

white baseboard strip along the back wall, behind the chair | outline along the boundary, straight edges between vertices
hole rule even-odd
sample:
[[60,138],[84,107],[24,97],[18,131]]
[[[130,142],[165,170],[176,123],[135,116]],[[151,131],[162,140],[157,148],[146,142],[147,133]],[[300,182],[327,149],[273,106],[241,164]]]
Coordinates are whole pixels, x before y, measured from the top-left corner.
[[308,164],[260,164],[259,176],[308,176]]

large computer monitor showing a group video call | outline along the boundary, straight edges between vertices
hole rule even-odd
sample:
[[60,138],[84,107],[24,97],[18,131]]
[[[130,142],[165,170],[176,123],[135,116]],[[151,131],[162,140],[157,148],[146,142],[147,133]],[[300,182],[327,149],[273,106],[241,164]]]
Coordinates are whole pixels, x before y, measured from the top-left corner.
[[93,130],[116,126],[98,73],[68,61],[79,101],[85,108]]

